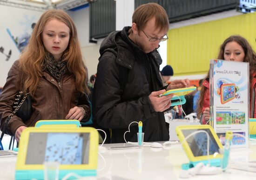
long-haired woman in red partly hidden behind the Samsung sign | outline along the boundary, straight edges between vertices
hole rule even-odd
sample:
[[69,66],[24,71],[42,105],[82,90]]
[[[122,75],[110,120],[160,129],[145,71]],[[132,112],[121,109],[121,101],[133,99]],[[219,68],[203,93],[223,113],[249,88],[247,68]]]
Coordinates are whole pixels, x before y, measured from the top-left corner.
[[[248,41],[241,36],[230,36],[220,46],[218,59],[249,63],[250,81],[250,118],[256,118],[256,53]],[[202,124],[210,119],[209,71],[202,83],[202,89],[197,106],[197,118]]]

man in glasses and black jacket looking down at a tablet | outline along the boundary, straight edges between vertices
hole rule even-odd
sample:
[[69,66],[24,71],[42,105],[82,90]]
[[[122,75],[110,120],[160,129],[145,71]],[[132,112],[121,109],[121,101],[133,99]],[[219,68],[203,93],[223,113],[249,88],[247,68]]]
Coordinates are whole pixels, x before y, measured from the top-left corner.
[[132,22],[131,27],[111,32],[101,43],[93,91],[94,122],[111,129],[112,143],[137,141],[134,121],[143,122],[144,141],[168,141],[163,111],[170,108],[173,95],[159,95],[189,87],[189,80],[175,80],[163,87],[157,48],[168,39],[169,21],[162,6],[139,6]]

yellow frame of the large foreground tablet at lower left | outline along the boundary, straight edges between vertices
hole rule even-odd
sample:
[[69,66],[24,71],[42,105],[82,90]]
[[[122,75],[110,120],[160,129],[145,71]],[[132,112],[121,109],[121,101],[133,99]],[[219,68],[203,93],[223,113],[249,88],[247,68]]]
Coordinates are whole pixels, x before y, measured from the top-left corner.
[[61,165],[60,170],[93,170],[97,169],[98,162],[98,145],[99,134],[98,131],[90,127],[82,128],[68,128],[67,126],[56,127],[56,129],[34,128],[29,127],[22,131],[20,136],[19,153],[17,155],[17,162],[15,170],[44,170],[43,164],[26,164],[27,148],[30,133],[90,133],[89,136],[89,161],[88,164],[79,165]]

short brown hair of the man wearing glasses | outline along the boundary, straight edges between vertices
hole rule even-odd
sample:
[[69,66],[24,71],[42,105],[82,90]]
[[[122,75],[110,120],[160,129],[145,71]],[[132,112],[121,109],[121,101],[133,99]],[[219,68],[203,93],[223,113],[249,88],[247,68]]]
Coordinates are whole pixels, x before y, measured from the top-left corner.
[[136,23],[138,31],[143,30],[148,20],[155,17],[155,26],[160,30],[169,29],[169,19],[162,6],[156,3],[142,4],[133,13],[132,22]]

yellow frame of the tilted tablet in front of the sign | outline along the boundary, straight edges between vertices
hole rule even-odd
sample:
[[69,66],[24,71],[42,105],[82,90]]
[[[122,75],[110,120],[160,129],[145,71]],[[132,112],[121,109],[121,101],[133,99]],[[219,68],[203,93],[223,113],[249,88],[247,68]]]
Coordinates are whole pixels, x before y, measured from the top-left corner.
[[[197,129],[197,130],[203,130],[203,129],[209,129],[213,138],[215,139],[217,145],[219,146],[219,149],[223,148],[218,136],[216,135],[214,129],[209,126],[209,125],[184,125],[184,126],[177,126],[175,131],[177,133],[177,136],[180,140],[180,142],[183,142],[182,147],[185,151],[185,153],[187,154],[189,161],[191,162],[195,162],[195,161],[208,161],[209,159],[218,159],[218,158],[222,158],[221,154],[216,154],[214,156],[214,154],[209,155],[209,157],[207,155],[203,155],[203,156],[194,156],[193,152],[191,151],[188,142],[185,140],[185,136],[182,133],[182,130],[193,130],[193,129]],[[185,140],[185,141],[184,141]]]

